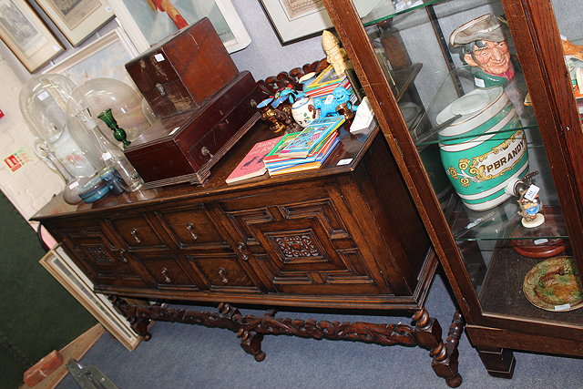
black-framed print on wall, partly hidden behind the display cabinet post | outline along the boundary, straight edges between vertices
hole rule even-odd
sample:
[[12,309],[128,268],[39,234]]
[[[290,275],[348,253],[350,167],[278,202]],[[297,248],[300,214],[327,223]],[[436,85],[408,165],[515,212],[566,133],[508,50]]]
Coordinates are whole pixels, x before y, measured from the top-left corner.
[[[359,0],[354,5],[367,15],[384,0]],[[281,45],[288,45],[332,28],[322,0],[260,0]]]

